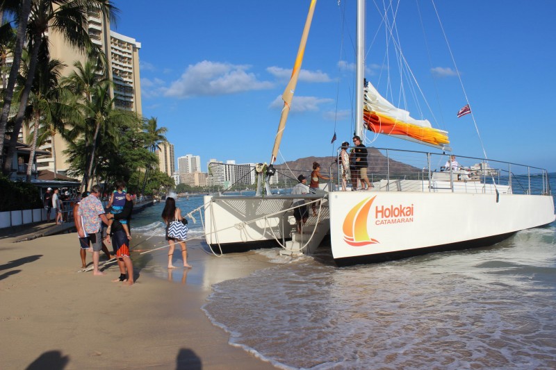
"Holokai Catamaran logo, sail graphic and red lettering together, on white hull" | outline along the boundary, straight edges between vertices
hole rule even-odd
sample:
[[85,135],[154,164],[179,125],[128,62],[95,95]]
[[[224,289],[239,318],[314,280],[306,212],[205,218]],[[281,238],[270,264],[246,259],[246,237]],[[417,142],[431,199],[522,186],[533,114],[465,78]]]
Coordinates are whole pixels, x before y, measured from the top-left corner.
[[[377,196],[363,199],[347,212],[343,221],[344,241],[351,246],[366,246],[379,241],[369,236],[367,221],[371,214],[371,206]],[[389,205],[375,207],[375,225],[404,224],[413,222],[414,205]]]

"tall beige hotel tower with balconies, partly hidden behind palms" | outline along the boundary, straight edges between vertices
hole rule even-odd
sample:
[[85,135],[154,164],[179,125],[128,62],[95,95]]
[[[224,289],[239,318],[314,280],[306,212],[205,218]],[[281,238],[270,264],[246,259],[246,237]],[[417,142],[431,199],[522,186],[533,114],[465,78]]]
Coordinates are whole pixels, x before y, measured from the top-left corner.
[[[141,85],[139,75],[139,49],[140,42],[132,37],[121,35],[110,30],[110,22],[102,17],[100,13],[89,15],[88,32],[92,42],[99,45],[106,54],[108,61],[108,78],[114,81],[111,87],[111,97],[115,98],[116,108],[131,110],[142,115],[141,107]],[[67,65],[63,70],[63,75],[67,76],[74,70],[74,62],[85,62],[86,56],[77,49],[71,47],[63,39],[60,33],[49,31],[49,51],[52,59],[58,59]],[[22,137],[26,137],[24,131]],[[56,171],[65,174],[69,168],[67,156],[63,153],[67,149],[66,142],[61,135],[55,135],[54,142],[50,138],[42,146],[41,151],[49,154],[37,156],[37,167],[54,171],[54,155],[52,151],[56,149]]]

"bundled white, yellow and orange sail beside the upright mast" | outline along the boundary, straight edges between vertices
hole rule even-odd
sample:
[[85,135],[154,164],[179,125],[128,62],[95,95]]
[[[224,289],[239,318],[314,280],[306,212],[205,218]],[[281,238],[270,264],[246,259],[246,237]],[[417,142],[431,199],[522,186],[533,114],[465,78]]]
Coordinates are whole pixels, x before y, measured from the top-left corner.
[[367,83],[364,92],[363,121],[373,133],[450,150],[448,131],[432,128],[427,119],[414,119],[407,110],[396,108]]

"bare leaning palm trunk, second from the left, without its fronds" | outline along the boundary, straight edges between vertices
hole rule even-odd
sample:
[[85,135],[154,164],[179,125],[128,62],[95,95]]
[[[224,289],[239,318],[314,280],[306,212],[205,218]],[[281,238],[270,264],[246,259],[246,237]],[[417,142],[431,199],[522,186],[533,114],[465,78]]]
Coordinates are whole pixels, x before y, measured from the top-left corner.
[[[19,111],[15,116],[15,124],[13,127],[13,133],[10,135],[10,142],[8,143],[8,152],[6,153],[6,163],[4,163],[4,173],[10,174],[12,171],[12,161],[13,156],[16,154],[15,146],[17,145],[17,137],[19,137],[19,131],[22,129],[25,108],[27,106],[27,100],[29,93],[31,92],[31,87],[33,85],[33,76],[35,76],[35,69],[37,69],[38,53],[40,49],[40,35],[35,35],[35,40],[33,40],[33,51],[31,53],[31,61],[29,62],[29,70],[27,72],[27,79],[25,81],[25,86],[22,92],[21,101],[19,101]],[[11,72],[10,72],[11,74]]]

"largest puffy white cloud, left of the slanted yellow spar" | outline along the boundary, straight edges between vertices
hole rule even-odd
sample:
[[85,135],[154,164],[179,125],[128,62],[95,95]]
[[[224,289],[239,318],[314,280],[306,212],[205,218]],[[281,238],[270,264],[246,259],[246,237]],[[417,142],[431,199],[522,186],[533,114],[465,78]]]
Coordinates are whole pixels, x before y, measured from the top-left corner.
[[259,81],[255,74],[247,73],[248,69],[249,65],[204,60],[196,65],[189,65],[177,81],[170,83],[164,94],[186,99],[193,96],[264,90],[273,86],[269,81]]

